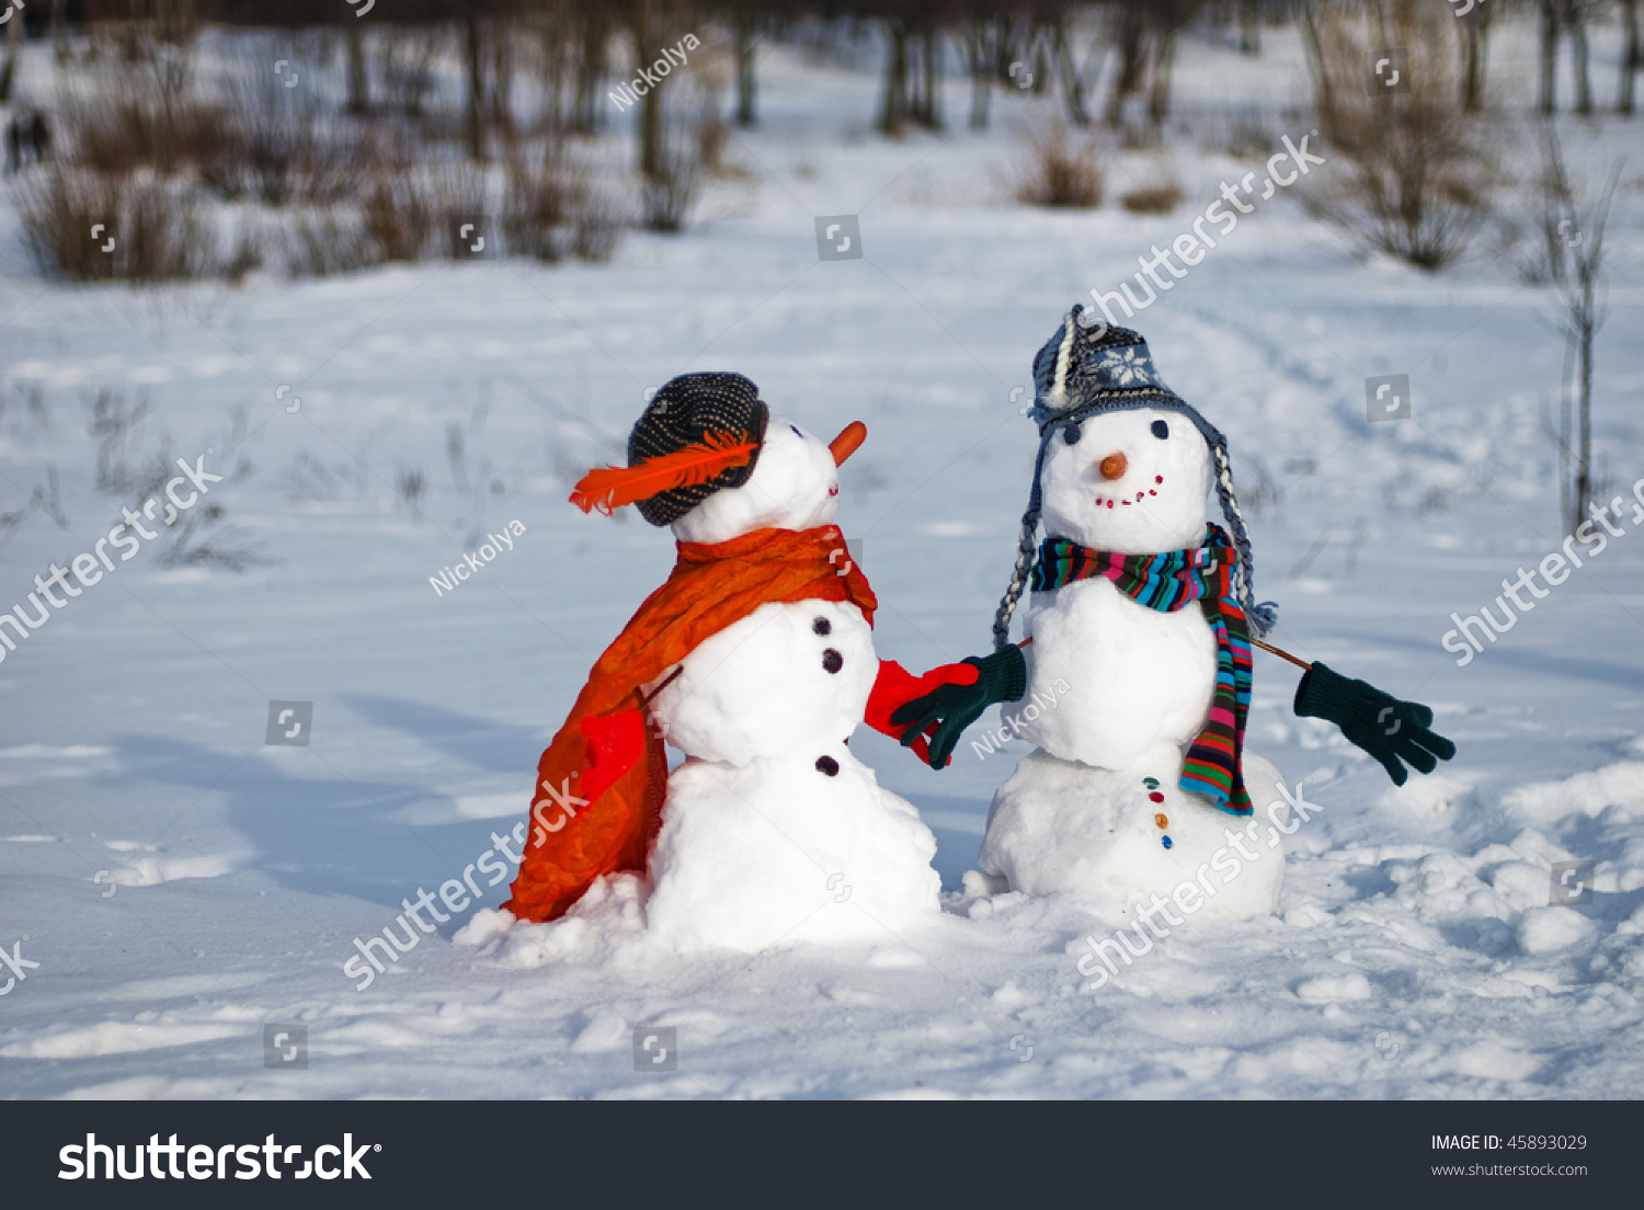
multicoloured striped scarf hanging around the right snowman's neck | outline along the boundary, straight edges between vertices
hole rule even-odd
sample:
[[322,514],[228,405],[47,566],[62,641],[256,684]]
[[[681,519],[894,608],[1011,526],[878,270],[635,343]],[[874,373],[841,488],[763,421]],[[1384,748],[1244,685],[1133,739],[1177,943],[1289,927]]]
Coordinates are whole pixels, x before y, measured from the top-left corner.
[[1182,761],[1180,787],[1235,815],[1251,814],[1240,755],[1249,714],[1249,625],[1233,595],[1236,551],[1226,533],[1208,524],[1203,544],[1162,554],[1088,551],[1065,538],[1046,538],[1032,569],[1032,590],[1105,575],[1131,600],[1174,613],[1197,600],[1217,635],[1217,690],[1210,715]]

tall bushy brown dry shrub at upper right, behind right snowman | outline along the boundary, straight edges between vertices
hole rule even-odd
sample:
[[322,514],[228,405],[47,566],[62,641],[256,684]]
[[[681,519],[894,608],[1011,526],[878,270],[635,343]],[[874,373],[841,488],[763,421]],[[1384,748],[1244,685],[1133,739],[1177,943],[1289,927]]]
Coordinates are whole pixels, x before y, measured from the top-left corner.
[[[1424,270],[1448,265],[1489,217],[1501,164],[1480,118],[1458,102],[1458,23],[1442,8],[1396,0],[1386,43],[1365,20],[1322,30],[1323,143],[1333,163],[1304,206],[1368,248]],[[1401,87],[1369,90],[1369,54],[1404,49]]]

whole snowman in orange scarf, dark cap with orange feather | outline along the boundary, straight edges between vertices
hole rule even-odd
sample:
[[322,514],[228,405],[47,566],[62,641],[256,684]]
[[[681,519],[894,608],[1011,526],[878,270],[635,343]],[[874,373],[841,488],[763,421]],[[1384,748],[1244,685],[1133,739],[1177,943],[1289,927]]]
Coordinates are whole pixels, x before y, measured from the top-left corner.
[[[646,875],[646,929],[681,952],[883,940],[939,914],[931,830],[847,740],[977,674],[875,656],[876,600],[834,524],[865,432],[824,444],[741,375],[681,375],[630,465],[577,485],[585,511],[638,503],[671,524],[679,561],[543,753],[515,917],[556,919],[621,871]],[[686,753],[672,773],[664,740]]]

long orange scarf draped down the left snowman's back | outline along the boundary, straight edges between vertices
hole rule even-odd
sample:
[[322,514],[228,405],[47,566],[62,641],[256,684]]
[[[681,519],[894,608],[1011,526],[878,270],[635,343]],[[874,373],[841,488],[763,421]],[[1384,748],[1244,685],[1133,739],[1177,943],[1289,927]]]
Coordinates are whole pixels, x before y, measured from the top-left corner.
[[[667,760],[654,727],[643,727],[641,686],[656,681],[704,640],[773,602],[837,600],[868,625],[878,602],[845,556],[838,526],[755,529],[728,543],[679,543],[667,582],[644,598],[593,664],[570,717],[538,763],[538,789],[513,898],[523,921],[552,921],[616,870],[643,870],[661,827]],[[643,727],[643,756],[613,781],[589,732]],[[589,730],[584,730],[589,723]],[[579,792],[582,791],[582,792]]]

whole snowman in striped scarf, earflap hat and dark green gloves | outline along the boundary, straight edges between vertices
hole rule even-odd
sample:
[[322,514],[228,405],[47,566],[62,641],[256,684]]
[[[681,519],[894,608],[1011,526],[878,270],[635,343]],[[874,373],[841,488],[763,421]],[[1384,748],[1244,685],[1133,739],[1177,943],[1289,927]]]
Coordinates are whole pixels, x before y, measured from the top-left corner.
[[[1034,358],[1028,414],[1039,454],[995,651],[965,661],[975,684],[891,715],[904,743],[929,737],[934,768],[995,702],[1037,745],[993,797],[967,889],[1134,903],[1192,884],[1194,911],[1269,914],[1297,824],[1277,769],[1245,746],[1251,649],[1277,608],[1254,600],[1226,439],[1164,385],[1141,335],[1087,327],[1080,306]],[[1335,722],[1396,783],[1401,758],[1430,773],[1455,755],[1427,707],[1305,667],[1295,712]]]

